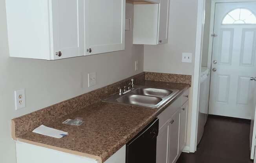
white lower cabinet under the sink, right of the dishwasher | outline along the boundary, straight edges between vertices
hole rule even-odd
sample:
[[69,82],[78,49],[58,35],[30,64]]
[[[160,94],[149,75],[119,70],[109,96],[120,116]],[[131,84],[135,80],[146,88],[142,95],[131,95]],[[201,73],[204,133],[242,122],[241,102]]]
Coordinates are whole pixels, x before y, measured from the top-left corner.
[[[177,98],[159,116],[156,163],[176,163],[186,144],[188,99]],[[185,102],[185,103],[184,103]],[[182,103],[184,103],[182,105]]]

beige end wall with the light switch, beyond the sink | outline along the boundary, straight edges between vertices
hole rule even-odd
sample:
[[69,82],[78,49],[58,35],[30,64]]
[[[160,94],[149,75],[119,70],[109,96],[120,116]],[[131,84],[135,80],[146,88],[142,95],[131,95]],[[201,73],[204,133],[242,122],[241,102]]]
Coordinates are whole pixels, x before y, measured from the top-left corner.
[[[144,46],[144,71],[194,74],[197,0],[170,0],[169,41]],[[182,63],[182,53],[192,53],[192,63]],[[193,76],[192,76],[193,81]],[[190,143],[192,88],[188,111],[187,146]]]

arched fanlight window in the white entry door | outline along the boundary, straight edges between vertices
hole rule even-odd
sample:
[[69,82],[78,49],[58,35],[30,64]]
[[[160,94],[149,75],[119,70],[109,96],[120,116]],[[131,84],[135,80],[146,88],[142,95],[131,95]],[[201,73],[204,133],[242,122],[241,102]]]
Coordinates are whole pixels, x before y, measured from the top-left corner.
[[249,9],[238,8],[227,13],[222,20],[222,24],[256,24],[256,16]]

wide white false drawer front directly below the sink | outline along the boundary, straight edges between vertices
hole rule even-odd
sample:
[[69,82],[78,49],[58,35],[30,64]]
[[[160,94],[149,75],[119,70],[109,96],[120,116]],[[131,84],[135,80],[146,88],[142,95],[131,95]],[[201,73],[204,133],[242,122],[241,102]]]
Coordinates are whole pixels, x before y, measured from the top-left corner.
[[159,129],[163,127],[173,114],[181,108],[181,98],[182,97],[177,98],[170,106],[157,116],[157,118],[159,118]]

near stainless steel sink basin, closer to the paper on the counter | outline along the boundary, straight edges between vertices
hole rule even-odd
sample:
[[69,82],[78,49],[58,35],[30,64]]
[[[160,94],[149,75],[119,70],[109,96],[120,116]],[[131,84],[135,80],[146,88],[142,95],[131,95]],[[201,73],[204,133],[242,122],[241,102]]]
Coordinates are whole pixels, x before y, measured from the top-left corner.
[[152,96],[141,96],[137,94],[128,94],[125,96],[122,96],[117,99],[117,102],[119,103],[126,103],[130,105],[139,105],[144,107],[150,107],[152,105],[157,105],[162,101],[161,98],[158,97],[152,97]]

